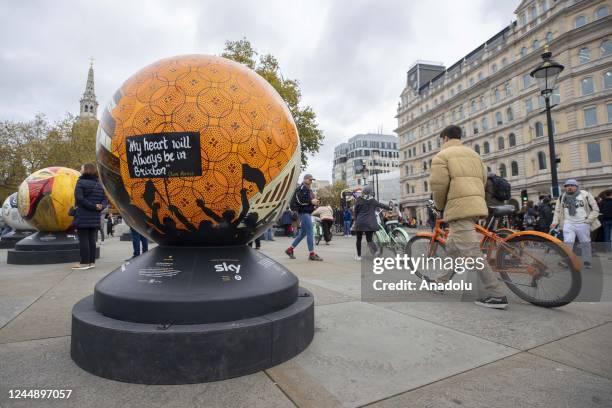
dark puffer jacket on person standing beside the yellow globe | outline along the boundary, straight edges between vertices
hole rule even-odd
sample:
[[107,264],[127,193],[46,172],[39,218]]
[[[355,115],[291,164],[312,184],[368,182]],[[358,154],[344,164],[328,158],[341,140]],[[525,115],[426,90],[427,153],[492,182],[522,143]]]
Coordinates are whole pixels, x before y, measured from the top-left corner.
[[96,204],[102,204],[104,208],[108,205],[108,201],[98,178],[89,174],[81,175],[74,189],[74,197],[77,209],[73,227],[100,228],[101,211],[96,208]]

